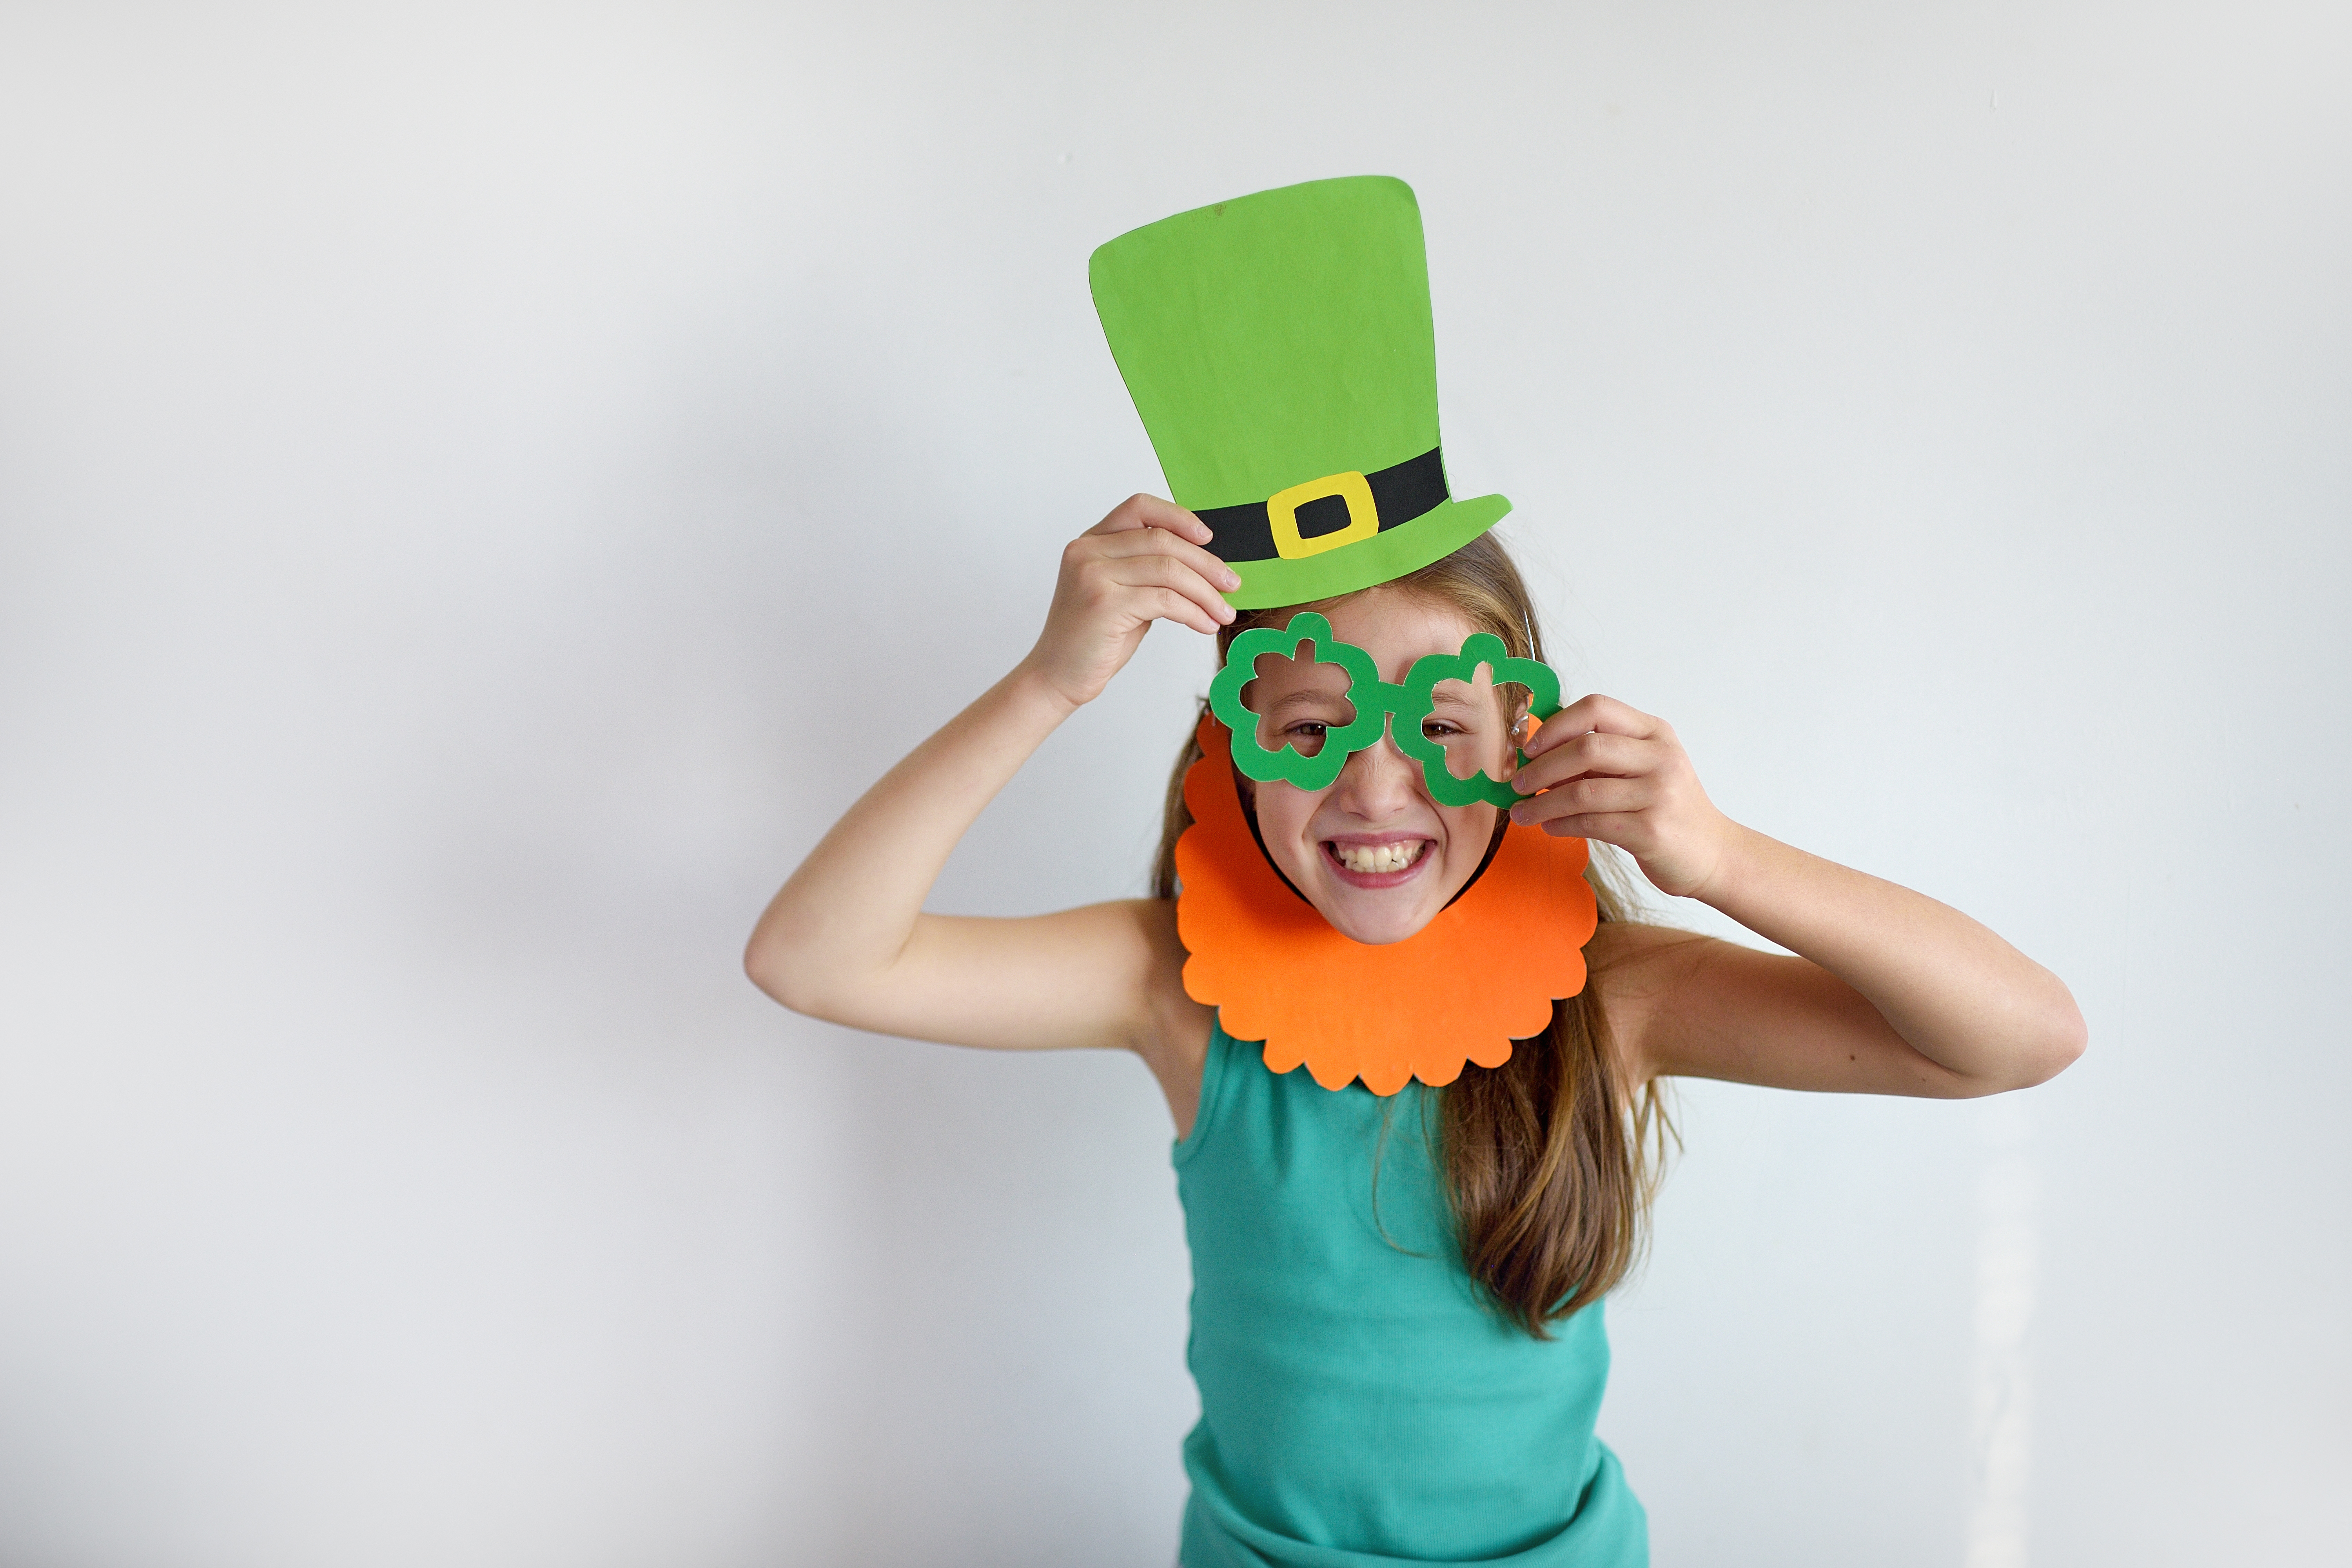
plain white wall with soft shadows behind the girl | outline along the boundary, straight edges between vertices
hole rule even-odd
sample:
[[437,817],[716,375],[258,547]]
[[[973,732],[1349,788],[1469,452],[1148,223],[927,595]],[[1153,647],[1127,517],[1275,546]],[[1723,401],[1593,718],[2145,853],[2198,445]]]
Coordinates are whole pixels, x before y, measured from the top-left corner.
[[[2340,1561],[2347,71],[2244,0],[0,9],[0,1563],[1169,1561],[1145,1074],[736,952],[1160,487],[1087,252],[1352,172],[1573,684],[2093,1027],[1684,1093],[1658,1563]],[[1204,682],[936,905],[1138,889]]]

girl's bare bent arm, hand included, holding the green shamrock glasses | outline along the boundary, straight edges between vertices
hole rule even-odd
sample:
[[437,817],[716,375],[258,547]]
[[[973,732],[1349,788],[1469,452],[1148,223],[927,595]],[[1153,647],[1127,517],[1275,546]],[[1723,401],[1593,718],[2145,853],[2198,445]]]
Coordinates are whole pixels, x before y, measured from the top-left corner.
[[1959,910],[1740,827],[1672,726],[1604,696],[1548,719],[1519,823],[1632,853],[1665,893],[1799,957],[1602,926],[1592,973],[1635,1081],[1691,1074],[1903,1095],[2039,1084],[2082,1056],[2065,983]]

